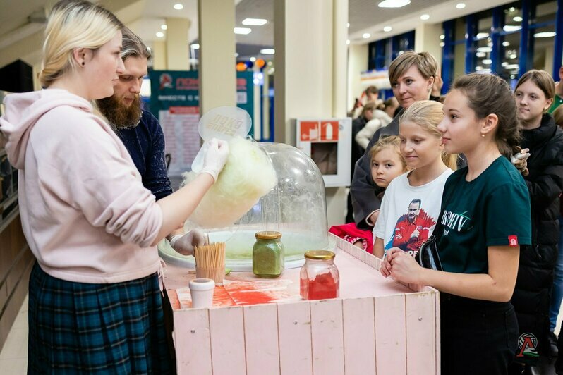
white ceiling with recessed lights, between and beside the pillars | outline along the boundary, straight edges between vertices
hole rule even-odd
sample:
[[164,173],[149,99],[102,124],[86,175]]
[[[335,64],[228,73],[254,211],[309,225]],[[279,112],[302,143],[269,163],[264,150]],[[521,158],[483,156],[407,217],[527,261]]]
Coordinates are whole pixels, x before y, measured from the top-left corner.
[[[282,0],[278,0],[282,1]],[[301,0],[308,1],[308,0]],[[349,39],[351,43],[363,44],[373,40],[390,37],[413,30],[420,23],[441,23],[444,20],[458,18],[511,0],[465,0],[466,8],[459,10],[455,4],[462,0],[411,0],[404,8],[379,8],[379,0],[349,0]],[[50,8],[55,0],[0,0],[0,50],[6,43],[17,42],[23,35],[25,27],[30,27],[28,18],[42,7]],[[141,38],[152,44],[155,40],[163,40],[156,36],[160,25],[166,18],[188,18],[190,42],[198,38],[198,0],[99,0],[97,1],[114,11],[123,23],[129,25]],[[174,4],[181,2],[183,10],[176,11]],[[236,26],[242,26],[244,18],[265,18],[268,22],[263,26],[252,26],[248,35],[236,35],[239,54],[248,56],[255,49],[274,44],[274,0],[234,0],[236,4]],[[428,13],[430,19],[420,20],[420,14]],[[27,26],[26,26],[27,25]],[[383,32],[386,25],[393,27],[392,32]],[[37,27],[37,25],[35,25]],[[28,30],[28,32],[30,32]],[[371,37],[363,39],[364,32]],[[166,32],[164,32],[164,38]]]

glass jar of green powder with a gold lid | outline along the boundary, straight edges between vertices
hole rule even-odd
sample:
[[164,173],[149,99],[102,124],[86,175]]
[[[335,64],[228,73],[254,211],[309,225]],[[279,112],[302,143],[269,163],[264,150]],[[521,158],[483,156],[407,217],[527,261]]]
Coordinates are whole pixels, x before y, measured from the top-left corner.
[[258,277],[277,278],[284,271],[282,233],[258,232],[252,248],[252,271]]

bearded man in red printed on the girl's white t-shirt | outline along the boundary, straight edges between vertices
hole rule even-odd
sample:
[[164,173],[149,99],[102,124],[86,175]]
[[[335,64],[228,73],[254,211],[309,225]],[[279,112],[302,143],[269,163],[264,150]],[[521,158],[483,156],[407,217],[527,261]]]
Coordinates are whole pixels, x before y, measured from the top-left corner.
[[408,252],[415,256],[420,245],[428,240],[430,228],[436,221],[420,207],[420,199],[413,199],[408,205],[408,212],[397,220],[393,236],[385,245],[385,250],[392,247]]

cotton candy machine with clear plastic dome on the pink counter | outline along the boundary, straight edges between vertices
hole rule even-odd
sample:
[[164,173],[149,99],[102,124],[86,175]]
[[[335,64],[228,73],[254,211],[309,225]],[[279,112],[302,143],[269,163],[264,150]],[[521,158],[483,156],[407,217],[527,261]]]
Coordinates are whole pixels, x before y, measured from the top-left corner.
[[[226,267],[234,271],[252,270],[254,234],[261,230],[282,233],[286,269],[301,266],[307,250],[331,247],[325,183],[315,162],[283,143],[260,143],[260,148],[272,160],[277,185],[233,226],[205,230],[210,242],[226,242]],[[166,262],[195,267],[193,257],[176,253],[167,240],[158,248]]]

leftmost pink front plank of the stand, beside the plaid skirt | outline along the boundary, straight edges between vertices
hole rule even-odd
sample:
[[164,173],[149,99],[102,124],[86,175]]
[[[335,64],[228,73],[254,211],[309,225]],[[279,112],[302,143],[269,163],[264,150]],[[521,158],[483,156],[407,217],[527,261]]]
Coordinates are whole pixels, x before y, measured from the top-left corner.
[[212,374],[208,309],[176,311],[174,347],[178,374]]

